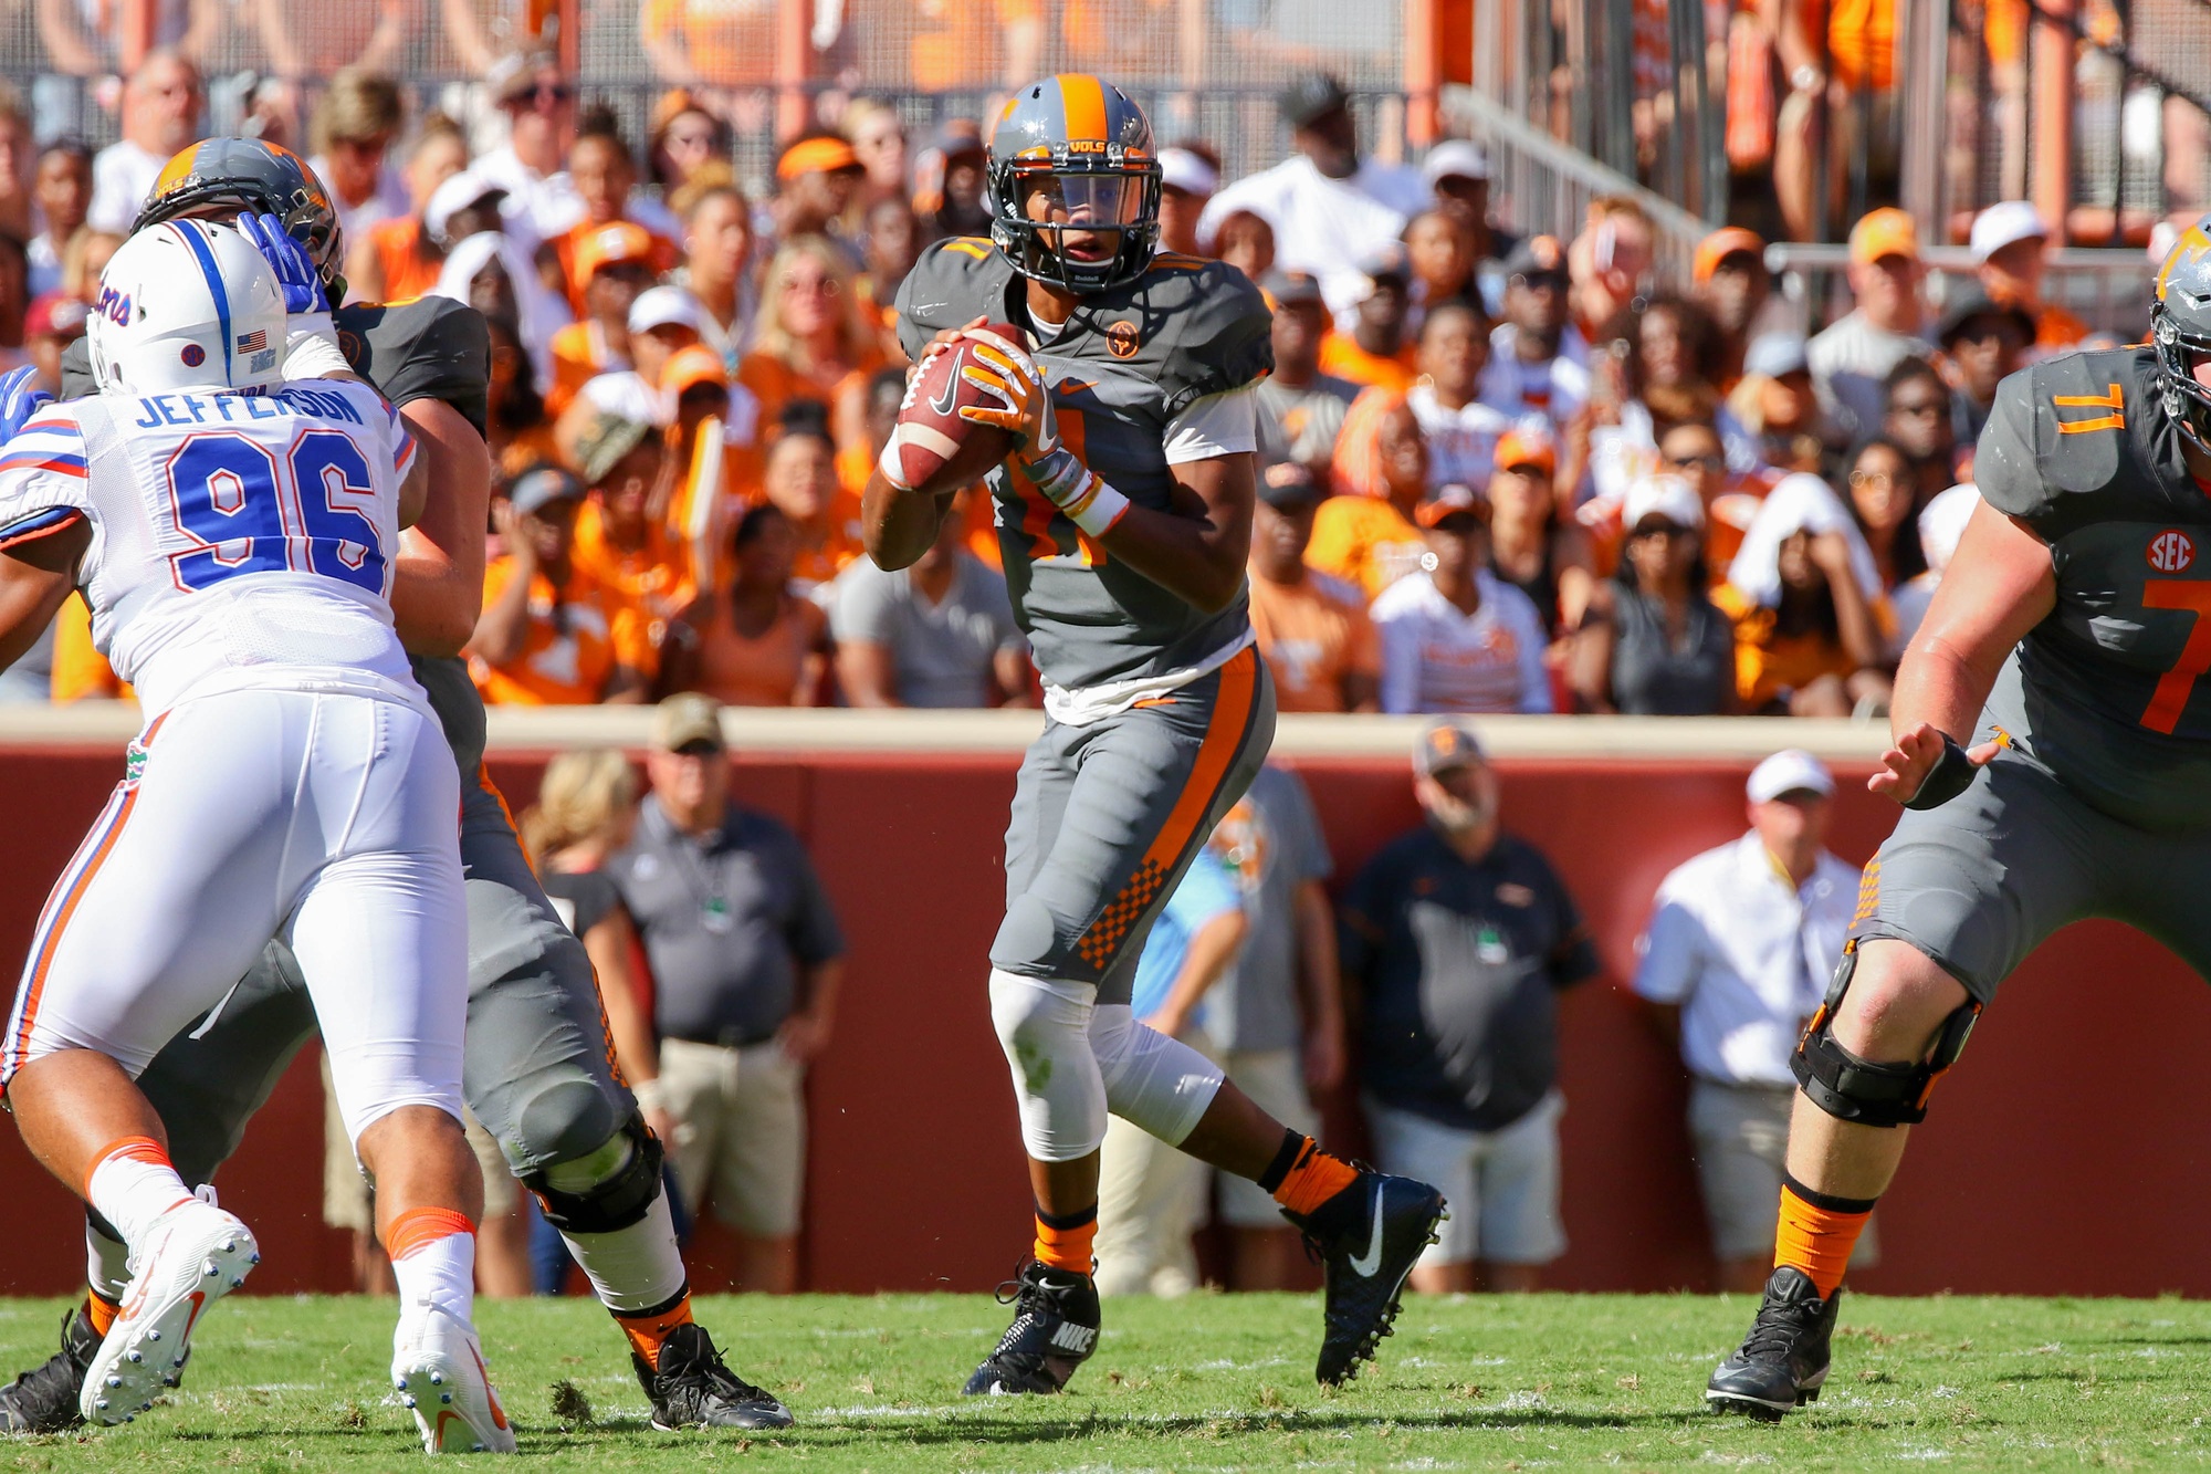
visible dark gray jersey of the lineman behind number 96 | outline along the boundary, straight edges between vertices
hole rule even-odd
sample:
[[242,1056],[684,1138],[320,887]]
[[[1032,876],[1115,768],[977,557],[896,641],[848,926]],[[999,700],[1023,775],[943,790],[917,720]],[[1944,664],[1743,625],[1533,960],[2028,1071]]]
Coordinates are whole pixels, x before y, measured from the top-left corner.
[[[444,297],[407,303],[352,303],[332,314],[338,347],[363,378],[394,405],[442,398],[478,434],[491,383],[491,336],[484,314]],[[62,398],[93,394],[93,361],[84,339],[62,350]],[[416,655],[413,675],[429,693],[464,783],[484,761],[484,699],[469,666],[449,655]]]

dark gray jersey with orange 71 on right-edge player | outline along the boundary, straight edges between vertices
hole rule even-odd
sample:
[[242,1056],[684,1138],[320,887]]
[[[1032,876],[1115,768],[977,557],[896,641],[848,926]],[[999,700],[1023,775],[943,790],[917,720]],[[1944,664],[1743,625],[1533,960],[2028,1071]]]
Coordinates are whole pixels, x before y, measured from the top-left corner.
[[2211,828],[2211,496],[2180,445],[2156,356],[2123,347],[2005,378],[1974,454],[1981,496],[2050,544],[2058,580],[1985,722],[2151,830]]

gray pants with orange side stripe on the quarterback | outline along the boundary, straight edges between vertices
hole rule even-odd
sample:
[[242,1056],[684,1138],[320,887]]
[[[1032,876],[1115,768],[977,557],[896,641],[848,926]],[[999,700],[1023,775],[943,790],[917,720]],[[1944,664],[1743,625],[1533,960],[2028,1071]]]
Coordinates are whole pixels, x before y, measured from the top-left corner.
[[1013,790],[991,965],[1094,983],[1099,1005],[1125,1005],[1143,938],[1271,741],[1274,682],[1256,646],[1103,722],[1048,724]]

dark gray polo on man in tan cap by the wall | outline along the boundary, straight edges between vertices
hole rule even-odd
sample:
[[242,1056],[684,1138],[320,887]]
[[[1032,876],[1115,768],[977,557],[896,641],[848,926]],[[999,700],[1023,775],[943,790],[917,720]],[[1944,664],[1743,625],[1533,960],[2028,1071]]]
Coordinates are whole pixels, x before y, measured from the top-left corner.
[[652,963],[654,1027],[699,1045],[756,1045],[789,1018],[798,967],[845,954],[805,845],[730,806],[692,839],[646,797],[630,848],[606,865]]

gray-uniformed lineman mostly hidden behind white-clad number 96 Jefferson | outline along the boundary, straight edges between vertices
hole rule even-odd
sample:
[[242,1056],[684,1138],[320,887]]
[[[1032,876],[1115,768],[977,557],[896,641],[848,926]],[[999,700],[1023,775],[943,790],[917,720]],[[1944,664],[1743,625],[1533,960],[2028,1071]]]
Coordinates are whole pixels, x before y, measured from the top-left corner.
[[[276,217],[321,272],[327,297],[343,297],[336,274],[343,241],[329,197],[285,148],[259,139],[192,144],[161,170],[137,228],[179,215],[239,212]],[[442,540],[409,542],[391,602],[413,675],[460,764],[469,892],[462,1093],[628,1335],[654,1425],[785,1428],[792,1416],[783,1403],[730,1372],[705,1328],[692,1324],[690,1284],[661,1191],[661,1144],[615,1067],[590,958],[539,890],[506,803],[484,775],[484,704],[453,655],[482,598],[480,436],[491,352],[484,321],[473,308],[436,297],[340,305],[332,316],[354,372],[409,414],[427,454],[453,456],[433,463],[440,491],[431,505],[449,498],[444,513],[425,513],[418,529],[436,527]],[[64,356],[69,396],[93,392],[82,347],[80,341]],[[469,476],[469,456],[475,489],[453,496]],[[471,536],[475,544],[464,547]],[[458,604],[458,615],[427,613],[442,604]],[[427,635],[433,626],[440,633]],[[159,1111],[186,1182],[214,1177],[314,1031],[298,965],[283,943],[272,943],[230,998],[155,1056],[139,1089]],[[86,1224],[86,1248],[91,1293],[62,1321],[62,1350],[0,1388],[0,1432],[64,1432],[80,1421],[84,1366],[130,1277],[119,1237],[97,1217]]]

